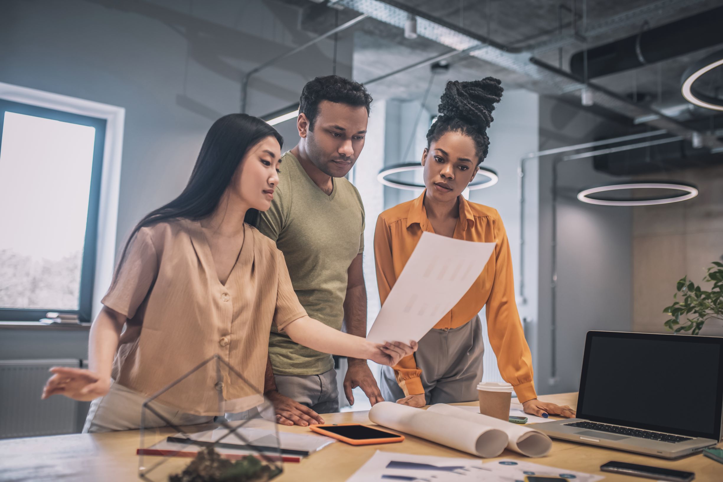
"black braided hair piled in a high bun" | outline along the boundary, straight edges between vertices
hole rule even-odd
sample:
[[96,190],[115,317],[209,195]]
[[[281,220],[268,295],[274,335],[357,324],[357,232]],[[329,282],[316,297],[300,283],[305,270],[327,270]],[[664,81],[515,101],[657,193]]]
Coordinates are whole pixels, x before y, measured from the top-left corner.
[[489,151],[487,128],[495,120],[492,111],[503,90],[495,77],[472,82],[450,80],[440,98],[440,116],[427,132],[427,149],[447,132],[461,132],[474,140],[479,166]]

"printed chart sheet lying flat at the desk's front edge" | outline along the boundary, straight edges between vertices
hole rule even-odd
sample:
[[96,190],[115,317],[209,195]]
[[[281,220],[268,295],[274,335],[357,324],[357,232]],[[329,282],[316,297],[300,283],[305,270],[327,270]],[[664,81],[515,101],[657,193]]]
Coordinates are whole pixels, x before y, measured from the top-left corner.
[[347,482],[523,482],[526,475],[596,482],[601,475],[547,467],[519,460],[429,457],[377,451]]

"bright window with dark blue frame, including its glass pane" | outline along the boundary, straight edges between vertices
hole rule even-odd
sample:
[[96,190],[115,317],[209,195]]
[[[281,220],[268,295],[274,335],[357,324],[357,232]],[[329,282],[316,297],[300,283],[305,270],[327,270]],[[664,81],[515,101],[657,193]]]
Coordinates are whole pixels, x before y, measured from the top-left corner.
[[0,99],[0,320],[90,321],[106,119]]

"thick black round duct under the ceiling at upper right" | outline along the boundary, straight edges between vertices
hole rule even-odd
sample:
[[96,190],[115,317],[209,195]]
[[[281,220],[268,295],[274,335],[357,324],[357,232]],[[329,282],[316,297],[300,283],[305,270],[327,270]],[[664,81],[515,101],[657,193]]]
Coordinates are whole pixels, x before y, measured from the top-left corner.
[[603,75],[637,69],[703,48],[723,43],[723,7],[641,30],[636,35],[589,48],[587,75],[585,51],[570,57],[570,72],[577,77],[594,79]]

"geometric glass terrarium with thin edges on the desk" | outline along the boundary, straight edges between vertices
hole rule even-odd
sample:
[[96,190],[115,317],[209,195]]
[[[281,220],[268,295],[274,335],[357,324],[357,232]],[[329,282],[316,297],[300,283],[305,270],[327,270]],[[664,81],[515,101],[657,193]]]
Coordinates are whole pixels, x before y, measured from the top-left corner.
[[[169,417],[168,407],[183,415]],[[218,355],[146,399],[137,454],[138,476],[152,482],[263,482],[283,472],[273,405]]]

